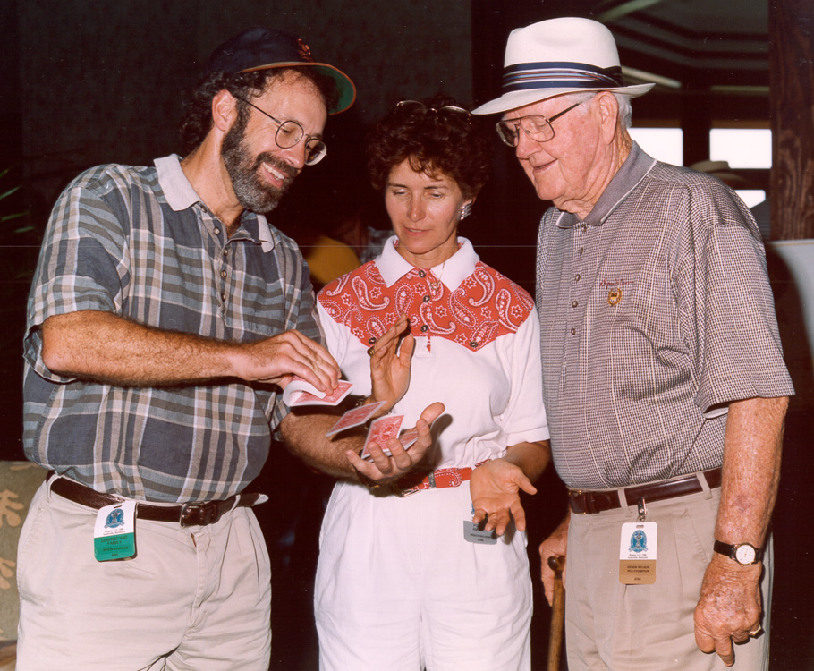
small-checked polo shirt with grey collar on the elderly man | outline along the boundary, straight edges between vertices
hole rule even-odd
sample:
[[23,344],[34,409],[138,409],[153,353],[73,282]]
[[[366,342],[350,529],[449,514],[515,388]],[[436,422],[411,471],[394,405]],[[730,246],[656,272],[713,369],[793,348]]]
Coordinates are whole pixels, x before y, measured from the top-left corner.
[[793,395],[749,210],[633,145],[585,221],[538,234],[543,389],[555,466],[603,489],[716,468],[726,404]]

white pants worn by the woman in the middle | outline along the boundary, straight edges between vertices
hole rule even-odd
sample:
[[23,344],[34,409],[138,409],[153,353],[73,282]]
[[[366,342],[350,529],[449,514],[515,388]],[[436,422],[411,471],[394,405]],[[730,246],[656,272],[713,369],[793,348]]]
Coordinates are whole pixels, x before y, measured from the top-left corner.
[[525,536],[467,542],[471,516],[469,482],[404,498],[336,486],[317,568],[321,669],[530,668]]

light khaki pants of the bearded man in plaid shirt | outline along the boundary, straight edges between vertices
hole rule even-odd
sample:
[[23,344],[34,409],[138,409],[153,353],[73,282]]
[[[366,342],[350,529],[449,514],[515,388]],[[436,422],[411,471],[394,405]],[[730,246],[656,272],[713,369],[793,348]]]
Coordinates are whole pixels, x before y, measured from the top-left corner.
[[133,559],[93,556],[97,512],[49,491],[20,536],[18,671],[267,669],[271,569],[250,508],[182,528],[136,520]]

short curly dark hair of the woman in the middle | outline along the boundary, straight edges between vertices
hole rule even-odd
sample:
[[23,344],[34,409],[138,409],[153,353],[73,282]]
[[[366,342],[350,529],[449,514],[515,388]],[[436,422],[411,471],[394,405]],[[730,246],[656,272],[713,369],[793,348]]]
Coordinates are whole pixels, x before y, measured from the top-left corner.
[[482,119],[442,107],[460,107],[438,95],[402,102],[368,137],[368,174],[382,190],[395,166],[410,160],[417,172],[441,172],[458,183],[465,198],[478,195],[491,166],[491,140]]

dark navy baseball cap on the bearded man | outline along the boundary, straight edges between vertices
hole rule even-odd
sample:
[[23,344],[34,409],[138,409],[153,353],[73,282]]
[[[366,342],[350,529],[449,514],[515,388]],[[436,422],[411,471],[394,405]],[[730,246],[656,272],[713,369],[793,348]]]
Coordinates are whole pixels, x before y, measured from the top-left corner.
[[288,30],[261,27],[243,30],[216,47],[209,56],[206,72],[254,72],[303,65],[316,68],[335,81],[339,99],[328,110],[329,115],[339,114],[352,106],[356,87],[351,78],[333,65],[315,61],[305,40]]

